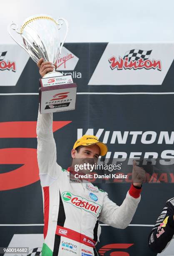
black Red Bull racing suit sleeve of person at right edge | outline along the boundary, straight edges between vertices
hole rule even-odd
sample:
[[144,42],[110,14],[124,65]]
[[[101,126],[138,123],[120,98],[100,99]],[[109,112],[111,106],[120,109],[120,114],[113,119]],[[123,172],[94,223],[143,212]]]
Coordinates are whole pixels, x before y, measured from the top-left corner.
[[[149,248],[161,253],[174,236],[174,198],[169,199],[149,235]],[[173,251],[174,253],[174,248]],[[174,255],[174,254],[172,254]]]

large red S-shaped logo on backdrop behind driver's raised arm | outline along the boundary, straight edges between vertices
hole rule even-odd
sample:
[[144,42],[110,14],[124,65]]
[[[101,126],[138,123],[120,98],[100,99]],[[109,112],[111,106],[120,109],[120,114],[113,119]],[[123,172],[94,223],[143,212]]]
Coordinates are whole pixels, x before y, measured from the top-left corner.
[[[54,121],[52,130],[55,132],[71,122]],[[36,121],[2,122],[0,123],[0,138],[6,138],[7,145],[11,138],[36,138],[36,123]],[[19,148],[18,144],[13,148],[5,148],[5,144],[2,147],[0,165],[5,171],[0,173],[0,190],[24,187],[40,179],[36,148]]]

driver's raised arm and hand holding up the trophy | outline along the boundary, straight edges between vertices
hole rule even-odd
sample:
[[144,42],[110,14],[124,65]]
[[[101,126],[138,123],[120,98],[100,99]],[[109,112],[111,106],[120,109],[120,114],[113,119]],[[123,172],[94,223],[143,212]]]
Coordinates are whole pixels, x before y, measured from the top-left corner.
[[[47,72],[53,70],[50,62],[43,62],[43,59],[37,63],[40,68],[40,75],[44,76]],[[37,118],[37,161],[39,166],[40,181],[43,187],[49,186],[60,173],[60,166],[57,164],[56,144],[52,132],[52,113],[40,114]]]

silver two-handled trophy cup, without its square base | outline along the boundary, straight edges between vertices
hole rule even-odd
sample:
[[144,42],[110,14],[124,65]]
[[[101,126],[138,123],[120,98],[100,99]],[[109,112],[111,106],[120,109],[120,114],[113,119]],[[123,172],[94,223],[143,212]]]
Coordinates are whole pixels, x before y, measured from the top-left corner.
[[[66,25],[65,38],[60,45],[59,30],[63,25]],[[20,44],[12,35],[11,30],[15,30],[21,35],[23,45]],[[54,20],[49,15],[37,15],[24,20],[23,25],[18,29],[16,23],[12,22],[8,26],[8,32],[12,39],[21,46],[30,57],[37,63],[41,58],[44,61],[50,61],[55,64],[59,54],[61,54],[62,46],[65,42],[68,33],[68,22],[64,18]],[[60,72],[50,72],[45,77],[62,76]]]

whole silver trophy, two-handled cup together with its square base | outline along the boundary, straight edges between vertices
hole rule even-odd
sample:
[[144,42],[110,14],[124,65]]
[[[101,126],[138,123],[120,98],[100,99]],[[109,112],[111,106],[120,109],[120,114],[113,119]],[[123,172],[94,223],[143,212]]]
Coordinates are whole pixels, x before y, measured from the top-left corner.
[[[59,30],[66,25],[65,38],[60,45]],[[17,42],[11,31],[15,30],[21,35],[23,45]],[[68,23],[64,18],[54,20],[49,15],[37,15],[27,18],[20,30],[16,23],[8,26],[12,39],[20,45],[37,63],[39,59],[50,61],[53,64],[61,54],[62,46],[68,32]],[[54,68],[40,79],[39,101],[40,113],[53,113],[75,109],[77,85],[73,83],[71,75],[63,76]]]

